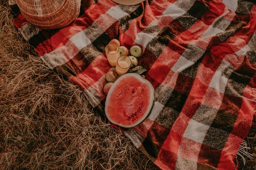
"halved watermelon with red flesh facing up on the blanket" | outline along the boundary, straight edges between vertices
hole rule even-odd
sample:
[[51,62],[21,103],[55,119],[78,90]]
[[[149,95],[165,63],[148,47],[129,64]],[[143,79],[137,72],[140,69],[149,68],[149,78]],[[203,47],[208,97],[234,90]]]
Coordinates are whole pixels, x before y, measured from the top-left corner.
[[147,118],[153,103],[154,88],[151,83],[137,73],[127,73],[110,87],[105,114],[113,124],[130,128]]

